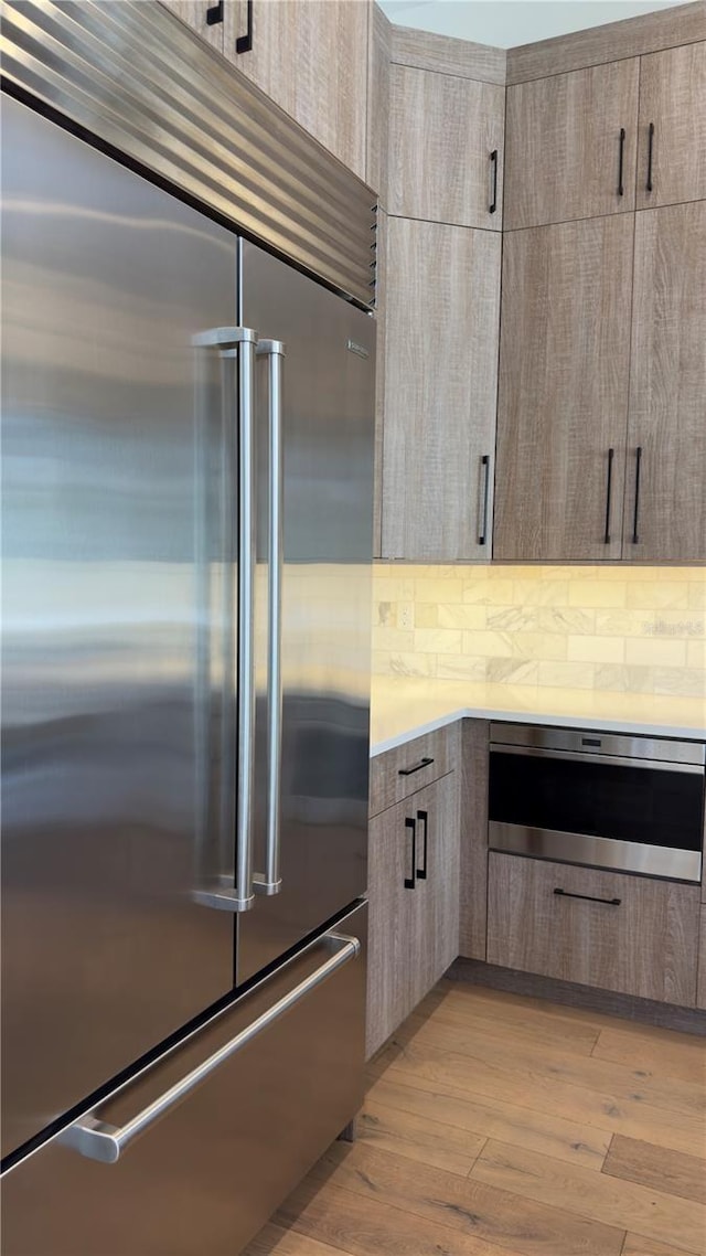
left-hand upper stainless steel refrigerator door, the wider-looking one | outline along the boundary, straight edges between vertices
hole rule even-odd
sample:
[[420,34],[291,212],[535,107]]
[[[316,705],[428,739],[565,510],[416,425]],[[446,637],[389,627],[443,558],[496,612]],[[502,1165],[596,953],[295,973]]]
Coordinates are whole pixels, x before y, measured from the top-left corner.
[[8,98],[3,191],[9,1152],[232,987],[195,901],[232,414],[192,338],[235,322],[237,241]]

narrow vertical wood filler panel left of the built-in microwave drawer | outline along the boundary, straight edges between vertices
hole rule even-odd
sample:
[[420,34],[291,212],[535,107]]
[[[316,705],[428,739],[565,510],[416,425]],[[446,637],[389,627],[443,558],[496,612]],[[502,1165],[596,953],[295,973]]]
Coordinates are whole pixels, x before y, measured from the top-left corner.
[[461,721],[459,955],[485,960],[487,921],[487,740],[484,720]]

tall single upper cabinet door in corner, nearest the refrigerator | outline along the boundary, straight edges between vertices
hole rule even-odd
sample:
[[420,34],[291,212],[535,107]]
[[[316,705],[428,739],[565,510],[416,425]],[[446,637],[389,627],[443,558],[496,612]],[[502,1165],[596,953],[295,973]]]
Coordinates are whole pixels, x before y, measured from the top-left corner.
[[383,558],[487,561],[500,236],[391,217],[387,273]]

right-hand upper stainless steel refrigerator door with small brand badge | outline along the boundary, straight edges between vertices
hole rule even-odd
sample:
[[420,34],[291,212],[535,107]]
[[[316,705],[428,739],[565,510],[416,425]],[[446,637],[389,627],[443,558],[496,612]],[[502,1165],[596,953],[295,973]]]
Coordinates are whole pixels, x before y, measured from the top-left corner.
[[[256,894],[254,909],[237,919],[242,982],[366,892],[376,324],[253,244],[241,244],[240,275],[241,320],[263,339],[281,342],[273,348],[284,352],[273,359],[261,340],[256,371],[253,843],[260,889],[268,891],[268,882],[270,891],[280,885],[278,893]],[[269,614],[278,565],[278,546],[273,551],[270,544],[270,471],[278,457],[269,438],[280,368],[278,695],[276,615]],[[280,737],[273,730],[278,716]],[[278,809],[279,830],[273,824]]]

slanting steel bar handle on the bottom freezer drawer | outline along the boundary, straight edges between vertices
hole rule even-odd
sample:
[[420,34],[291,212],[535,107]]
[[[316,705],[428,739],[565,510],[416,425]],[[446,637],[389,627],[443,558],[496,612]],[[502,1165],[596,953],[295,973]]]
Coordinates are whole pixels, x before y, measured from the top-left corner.
[[[204,1060],[198,1068],[192,1069],[187,1073],[181,1081],[177,1081],[173,1086],[170,1086],[165,1094],[155,1099],[153,1103],[143,1108],[142,1112],[137,1113],[132,1120],[126,1122],[124,1125],[108,1125],[104,1122],[97,1119],[93,1113],[88,1113],[85,1117],[80,1117],[79,1120],[69,1125],[62,1134],[59,1134],[58,1142],[63,1143],[64,1147],[70,1147],[80,1156],[85,1156],[90,1161],[100,1161],[103,1164],[114,1164],[119,1161],[121,1156],[129,1144],[143,1134],[151,1125],[165,1117],[172,1108],[182,1102],[186,1095],[196,1090],[202,1081],[207,1078],[221,1064],[230,1060],[231,1056],[241,1051],[244,1046],[247,1046],[253,1039],[258,1037],[264,1030],[269,1029],[280,1016],[284,1016],[290,1007],[294,1007],[303,999],[312,993],[317,986],[332,977],[338,968],[342,968],[350,960],[356,960],[361,953],[361,943],[358,938],[347,937],[340,933],[325,933],[322,938],[330,950],[330,956],[315,972],[300,981],[294,990],[290,990],[284,999],[274,1004],[258,1016],[251,1025],[236,1034],[230,1042],[221,1046],[220,1050],[210,1055],[207,1060]],[[133,1079],[134,1080],[134,1079]],[[129,1085],[129,1083],[126,1083]]]

